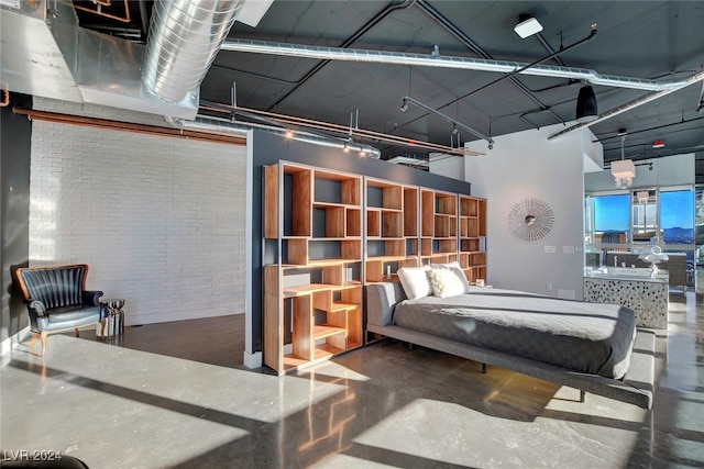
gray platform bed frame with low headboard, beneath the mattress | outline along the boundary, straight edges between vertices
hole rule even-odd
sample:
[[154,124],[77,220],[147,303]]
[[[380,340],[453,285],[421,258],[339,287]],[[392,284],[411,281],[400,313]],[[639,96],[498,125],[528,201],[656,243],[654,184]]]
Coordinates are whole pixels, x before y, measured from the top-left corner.
[[597,375],[570,371],[522,357],[463,344],[432,334],[399,327],[393,323],[394,306],[406,299],[398,282],[378,282],[366,286],[366,328],[369,332],[457,355],[458,357],[493,365],[558,384],[615,399],[644,409],[652,406],[654,388],[656,334],[638,330],[628,371],[623,380]]

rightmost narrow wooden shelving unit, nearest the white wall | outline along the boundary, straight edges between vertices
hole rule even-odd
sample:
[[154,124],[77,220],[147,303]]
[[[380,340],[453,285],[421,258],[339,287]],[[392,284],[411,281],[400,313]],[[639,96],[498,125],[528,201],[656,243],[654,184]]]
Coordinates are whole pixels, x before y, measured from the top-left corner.
[[459,261],[470,282],[486,279],[486,200],[460,199]]

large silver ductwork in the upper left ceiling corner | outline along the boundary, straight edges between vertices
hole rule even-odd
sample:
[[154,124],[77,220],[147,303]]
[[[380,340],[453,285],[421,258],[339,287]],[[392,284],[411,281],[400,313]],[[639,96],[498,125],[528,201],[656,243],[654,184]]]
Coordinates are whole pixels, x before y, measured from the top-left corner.
[[[25,4],[26,3],[26,4]],[[0,85],[13,92],[195,119],[199,86],[240,18],[272,0],[157,1],[148,47],[78,26],[67,1],[0,1]]]

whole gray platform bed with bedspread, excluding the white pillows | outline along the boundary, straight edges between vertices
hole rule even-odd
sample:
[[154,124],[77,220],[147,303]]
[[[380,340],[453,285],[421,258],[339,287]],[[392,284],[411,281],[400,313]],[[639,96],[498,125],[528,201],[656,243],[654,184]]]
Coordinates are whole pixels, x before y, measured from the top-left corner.
[[[651,331],[631,310],[520,291],[462,288],[416,294],[400,282],[366,287],[369,332],[650,409]],[[455,292],[457,293],[457,292]]]

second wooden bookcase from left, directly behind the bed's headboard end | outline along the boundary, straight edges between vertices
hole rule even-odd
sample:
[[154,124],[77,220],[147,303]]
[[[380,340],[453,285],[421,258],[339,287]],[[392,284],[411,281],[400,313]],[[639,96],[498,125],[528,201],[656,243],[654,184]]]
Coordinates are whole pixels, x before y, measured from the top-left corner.
[[365,178],[365,282],[418,266],[418,188]]

